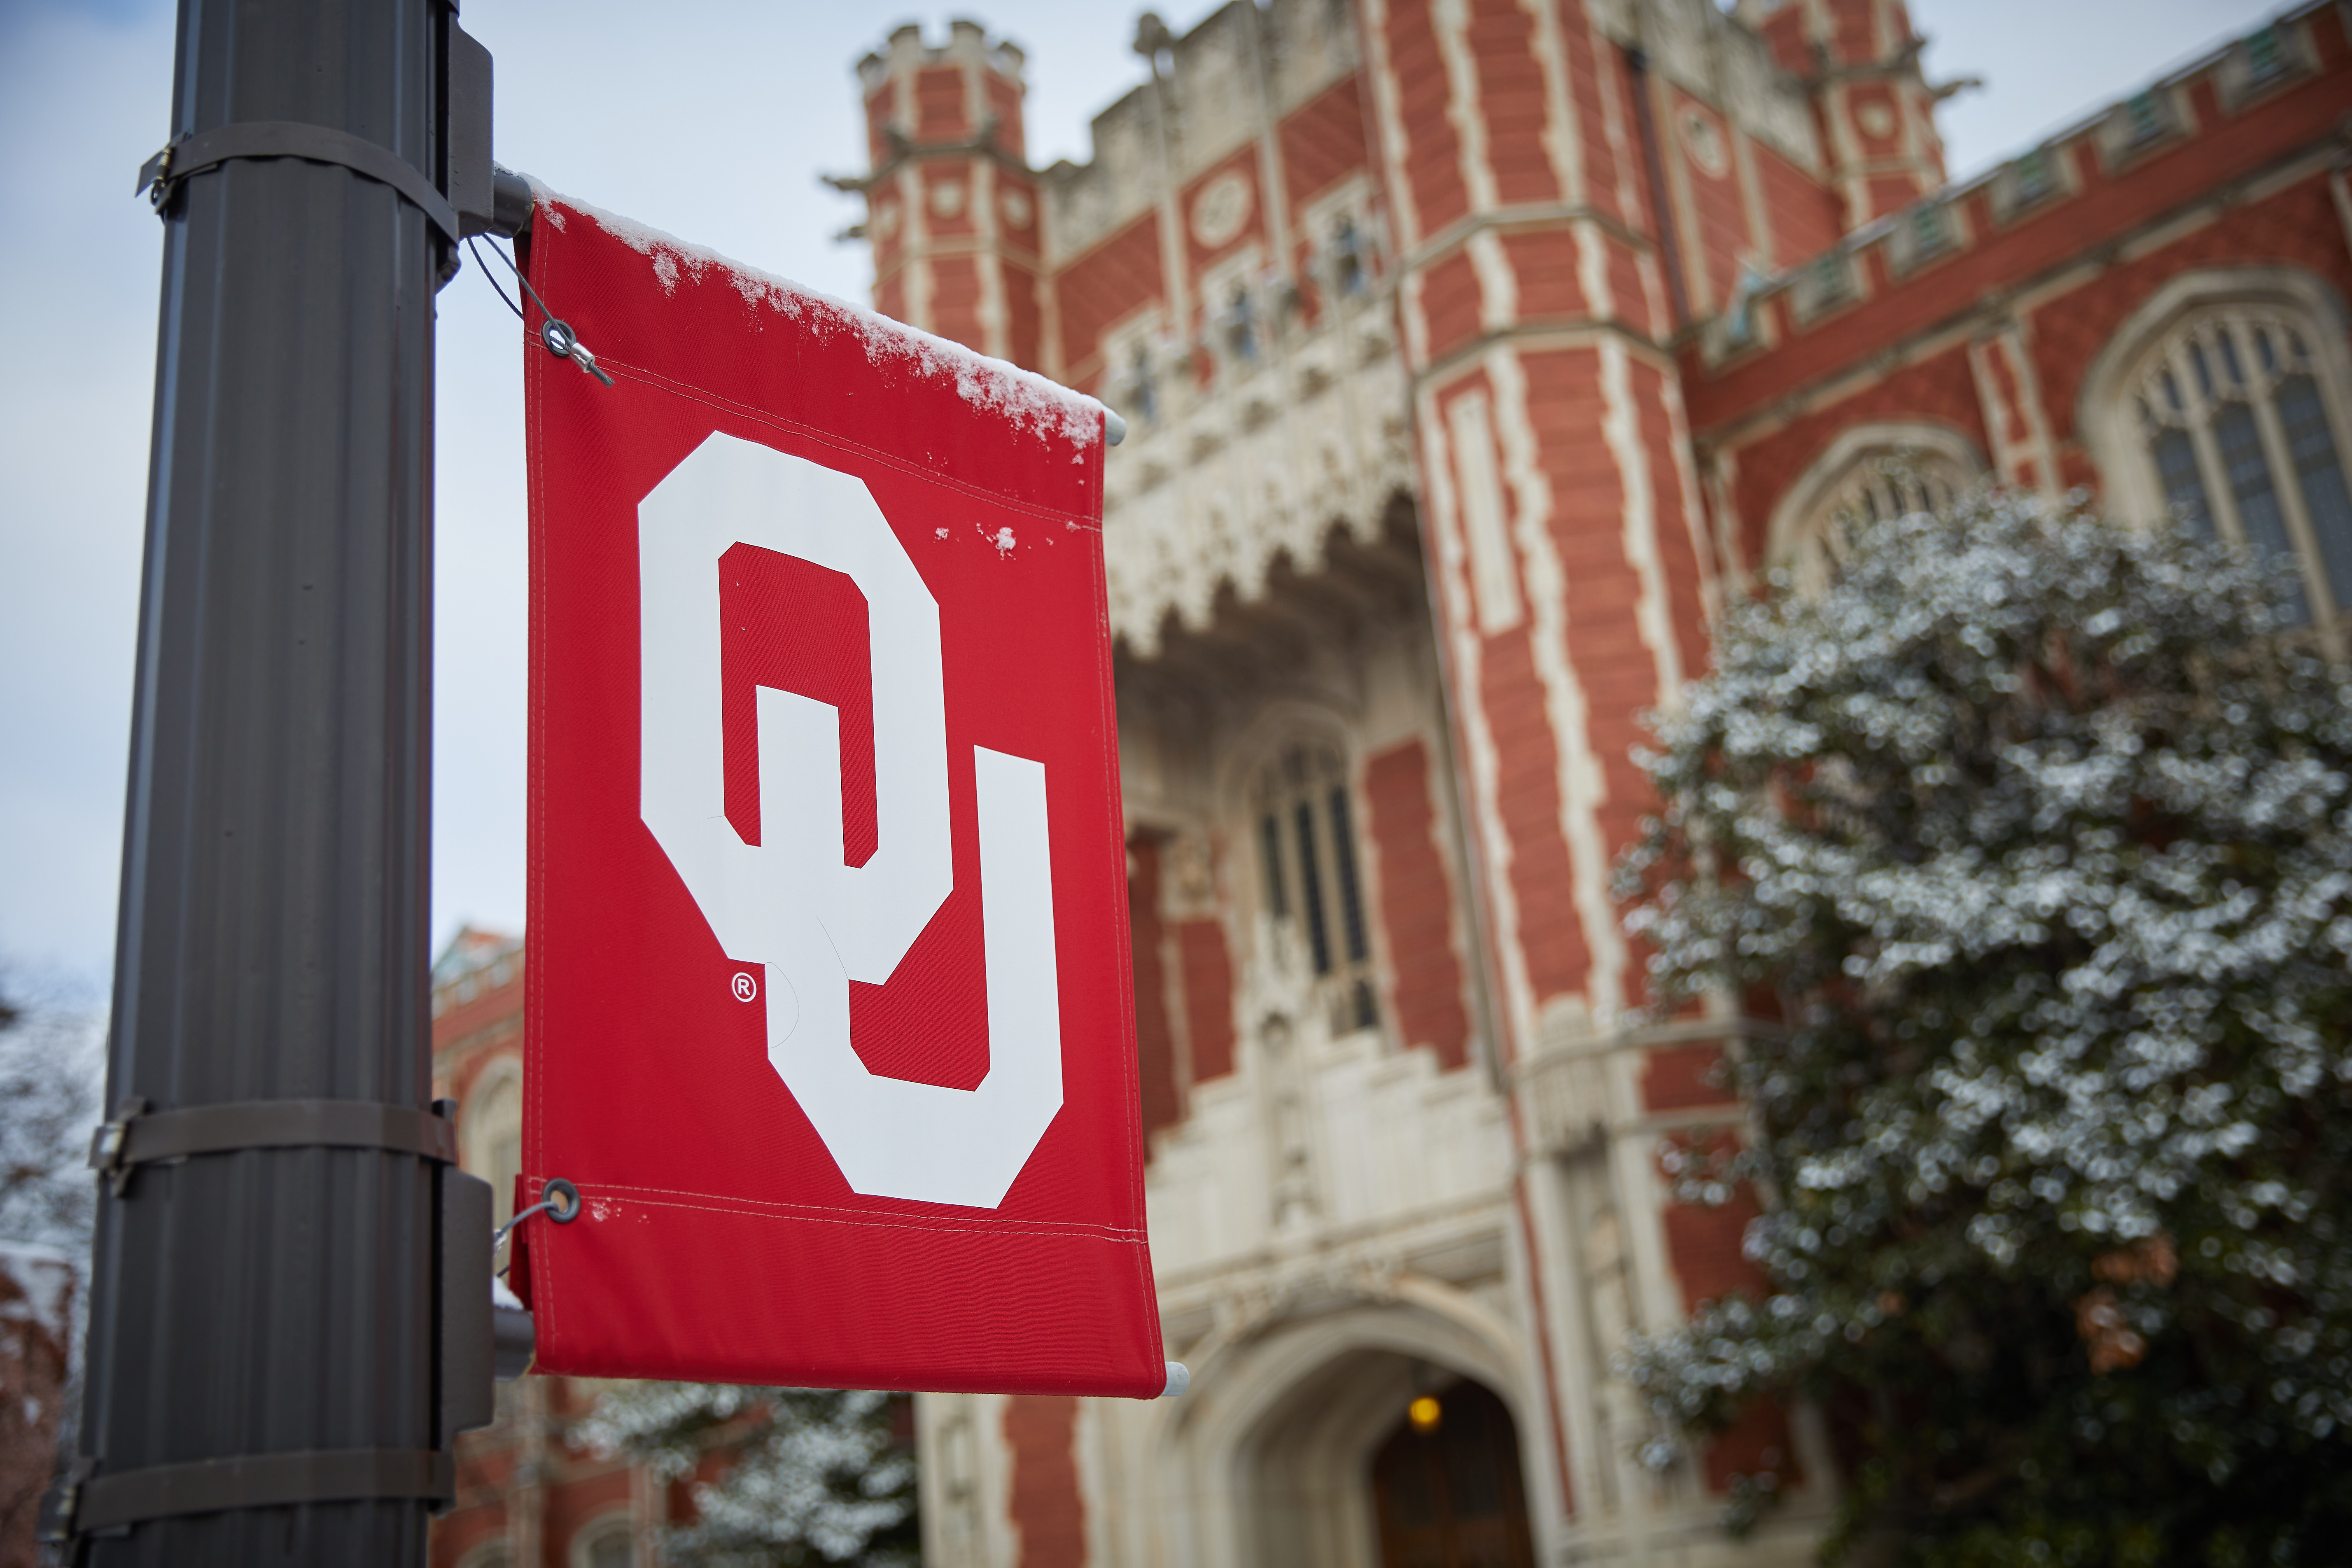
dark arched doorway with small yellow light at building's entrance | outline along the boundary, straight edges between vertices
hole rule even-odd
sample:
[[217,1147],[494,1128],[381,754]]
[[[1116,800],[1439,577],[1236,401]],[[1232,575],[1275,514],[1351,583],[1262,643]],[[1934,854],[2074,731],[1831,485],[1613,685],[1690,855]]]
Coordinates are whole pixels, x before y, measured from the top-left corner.
[[1371,1458],[1383,1568],[1534,1568],[1510,1410],[1475,1382],[1414,1406]]

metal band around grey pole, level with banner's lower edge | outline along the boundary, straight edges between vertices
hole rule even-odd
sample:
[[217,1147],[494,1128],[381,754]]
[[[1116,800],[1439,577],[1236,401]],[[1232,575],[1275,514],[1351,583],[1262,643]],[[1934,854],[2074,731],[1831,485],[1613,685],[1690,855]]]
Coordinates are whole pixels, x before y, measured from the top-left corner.
[[393,1150],[454,1166],[456,1128],[379,1100],[233,1100],[151,1112],[129,1095],[92,1135],[89,1168],[122,1197],[139,1166],[238,1150]]

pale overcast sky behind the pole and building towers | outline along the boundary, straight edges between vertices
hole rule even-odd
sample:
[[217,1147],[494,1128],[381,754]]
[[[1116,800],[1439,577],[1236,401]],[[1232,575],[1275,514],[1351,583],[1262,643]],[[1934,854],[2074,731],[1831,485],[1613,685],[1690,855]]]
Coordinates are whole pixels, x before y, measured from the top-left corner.
[[[974,0],[1028,52],[1037,162],[1141,80],[1141,7]],[[1176,28],[1216,9],[1162,5]],[[1955,174],[2030,146],[2279,9],[2241,0],[1915,0]],[[804,284],[863,299],[851,63],[936,7],[466,0],[499,160]],[[113,964],[172,5],[0,0],[0,961],[103,990]],[[524,503],[515,322],[468,266],[440,299],[433,929],[522,926]]]

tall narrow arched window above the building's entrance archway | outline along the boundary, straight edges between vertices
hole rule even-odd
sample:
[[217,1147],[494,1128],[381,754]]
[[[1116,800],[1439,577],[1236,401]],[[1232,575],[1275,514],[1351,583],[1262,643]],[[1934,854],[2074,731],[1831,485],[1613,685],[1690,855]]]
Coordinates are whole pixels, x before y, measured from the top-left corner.
[[1287,741],[1249,785],[1265,912],[1315,973],[1331,1032],[1381,1020],[1357,875],[1348,762],[1329,741]]

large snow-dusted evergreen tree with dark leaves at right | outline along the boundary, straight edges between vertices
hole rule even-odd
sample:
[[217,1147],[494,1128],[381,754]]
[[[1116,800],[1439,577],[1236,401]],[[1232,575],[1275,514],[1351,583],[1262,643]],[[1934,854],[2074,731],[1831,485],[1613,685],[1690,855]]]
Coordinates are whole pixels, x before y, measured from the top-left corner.
[[2345,1561],[2352,682],[2185,529],[1849,538],[1646,759],[1653,980],[1766,1020],[1750,1145],[1665,1159],[1762,1201],[1764,1288],[1630,1371],[1691,1432],[1811,1401],[1832,1561]]

